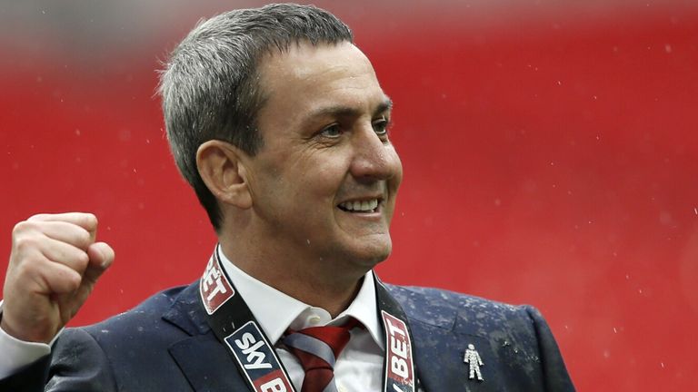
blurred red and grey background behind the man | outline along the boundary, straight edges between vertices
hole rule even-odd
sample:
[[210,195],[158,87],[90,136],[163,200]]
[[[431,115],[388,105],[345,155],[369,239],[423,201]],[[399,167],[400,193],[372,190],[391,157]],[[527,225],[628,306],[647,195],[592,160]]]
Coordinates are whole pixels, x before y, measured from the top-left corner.
[[[117,252],[72,325],[203,269],[155,69],[200,17],[260,4],[0,1],[0,254],[15,222],[73,210]],[[537,306],[579,390],[697,390],[698,4],[315,4],[396,103],[383,279]]]

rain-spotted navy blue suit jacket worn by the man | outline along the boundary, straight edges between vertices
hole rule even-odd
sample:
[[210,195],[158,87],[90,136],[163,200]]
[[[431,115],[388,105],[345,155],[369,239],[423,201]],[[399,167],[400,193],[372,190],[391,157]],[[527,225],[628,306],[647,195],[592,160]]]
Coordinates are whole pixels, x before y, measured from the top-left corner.
[[[425,391],[574,390],[536,309],[438,289],[387,289],[407,314]],[[93,326],[65,329],[51,356],[0,380],[0,391],[247,391],[197,296],[198,282]],[[484,362],[484,381],[469,379],[468,344]]]

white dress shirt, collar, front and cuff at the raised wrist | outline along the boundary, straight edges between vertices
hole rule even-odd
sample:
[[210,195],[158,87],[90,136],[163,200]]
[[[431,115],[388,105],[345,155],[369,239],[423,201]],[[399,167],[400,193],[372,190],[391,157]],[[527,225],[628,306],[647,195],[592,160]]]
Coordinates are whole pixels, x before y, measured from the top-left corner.
[[[235,267],[222,252],[219,254],[225,272],[233,281],[235,289],[244,298],[260,328],[275,346],[276,353],[284,363],[296,390],[301,390],[304,370],[293,354],[277,344],[285,330],[342,325],[349,317],[359,320],[365,328],[354,328],[351,331],[349,343],[336,358],[334,379],[337,390],[338,392],[365,392],[383,389],[384,338],[376,309],[372,271],[364,276],[361,289],[354,301],[339,316],[332,319],[326,310],[306,305],[254,279]],[[0,317],[2,317],[2,301],[0,301]],[[19,368],[50,354],[51,345],[22,341],[11,337],[0,328],[0,352],[3,353],[0,356],[0,378],[4,378],[12,375]]]

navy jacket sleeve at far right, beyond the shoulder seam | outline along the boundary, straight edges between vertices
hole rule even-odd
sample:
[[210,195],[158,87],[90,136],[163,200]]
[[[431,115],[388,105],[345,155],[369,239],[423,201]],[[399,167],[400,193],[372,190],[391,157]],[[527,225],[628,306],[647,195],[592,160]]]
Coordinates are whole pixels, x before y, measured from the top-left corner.
[[563,356],[557,347],[553,332],[548,327],[548,323],[543,319],[543,315],[538,309],[532,306],[523,307],[528,313],[528,317],[533,321],[533,328],[538,340],[538,351],[543,368],[543,379],[546,392],[573,392],[572,379],[564,366]]

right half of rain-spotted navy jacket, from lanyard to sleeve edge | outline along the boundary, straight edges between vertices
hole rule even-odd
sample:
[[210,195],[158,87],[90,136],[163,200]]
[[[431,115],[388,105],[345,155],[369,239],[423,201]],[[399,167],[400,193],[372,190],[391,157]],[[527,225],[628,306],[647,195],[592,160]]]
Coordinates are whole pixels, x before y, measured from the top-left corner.
[[574,390],[553,333],[532,306],[444,289],[385,286],[410,321],[426,389],[454,390],[467,383],[453,375],[466,374],[462,356],[472,344],[485,364],[488,388],[482,390]]

